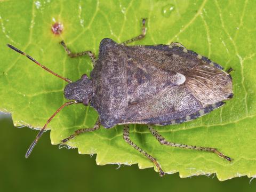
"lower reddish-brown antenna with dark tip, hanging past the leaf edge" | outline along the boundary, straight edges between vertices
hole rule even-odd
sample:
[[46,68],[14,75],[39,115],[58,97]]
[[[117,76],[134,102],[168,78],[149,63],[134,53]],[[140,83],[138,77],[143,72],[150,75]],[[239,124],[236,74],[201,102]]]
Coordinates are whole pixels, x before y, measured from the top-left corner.
[[66,102],[64,103],[57,111],[55,111],[55,113],[47,120],[47,122],[45,123],[43,129],[36,135],[36,139],[31,143],[31,145],[29,146],[28,150],[27,150],[27,153],[25,155],[26,158],[28,158],[28,156],[31,154],[33,148],[35,147],[37,141],[40,139],[40,137],[42,136],[42,134],[44,133],[44,130],[46,128],[46,126],[52,121],[53,117],[55,117],[55,115],[57,115],[59,113],[59,111],[61,109],[63,109],[65,106],[68,106],[68,105],[72,105],[74,103],[77,103],[77,101],[69,101],[69,102]]

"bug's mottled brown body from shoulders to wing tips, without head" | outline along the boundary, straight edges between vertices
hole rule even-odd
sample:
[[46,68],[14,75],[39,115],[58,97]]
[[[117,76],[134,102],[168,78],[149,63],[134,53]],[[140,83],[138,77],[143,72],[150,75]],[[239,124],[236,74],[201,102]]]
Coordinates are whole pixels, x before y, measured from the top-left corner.
[[91,106],[106,128],[189,121],[232,93],[231,79],[220,68],[183,47],[125,46],[106,38],[91,73]]

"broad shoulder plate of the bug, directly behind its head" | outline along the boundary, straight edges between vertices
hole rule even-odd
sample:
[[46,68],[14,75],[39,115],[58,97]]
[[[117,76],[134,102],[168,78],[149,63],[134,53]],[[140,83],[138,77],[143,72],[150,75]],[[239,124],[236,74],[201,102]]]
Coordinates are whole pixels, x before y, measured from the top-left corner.
[[119,122],[127,108],[126,63],[127,58],[116,43],[103,39],[99,59],[91,73],[93,95],[91,106],[99,115],[103,126],[112,127]]

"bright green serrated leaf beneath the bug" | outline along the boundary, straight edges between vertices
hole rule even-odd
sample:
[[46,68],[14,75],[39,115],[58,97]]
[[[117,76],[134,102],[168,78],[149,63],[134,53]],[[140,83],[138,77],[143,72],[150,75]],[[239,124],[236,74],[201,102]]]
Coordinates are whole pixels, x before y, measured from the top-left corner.
[[[147,18],[146,38],[134,44],[180,42],[209,57],[225,69],[232,67],[234,98],[220,109],[195,121],[156,129],[172,142],[216,147],[234,159],[228,163],[215,154],[161,146],[146,126],[132,125],[131,139],[157,158],[163,170],[180,177],[216,173],[219,180],[256,175],[255,1],[2,1],[0,3],[0,110],[12,114],[15,126],[41,129],[64,102],[65,81],[46,73],[8,47],[17,46],[61,76],[76,80],[90,74],[89,57],[71,59],[59,42],[74,52],[99,52],[102,38],[123,42],[141,32]],[[54,35],[54,22],[63,25]],[[49,124],[53,145],[97,119],[91,107],[64,108]],[[11,139],[11,138],[10,138]],[[31,141],[34,138],[31,138]],[[40,142],[38,143],[40,145]],[[97,164],[153,164],[122,138],[122,126],[100,129],[68,142],[81,154],[97,154]],[[36,150],[36,149],[35,149]],[[30,158],[33,158],[31,156]]]

